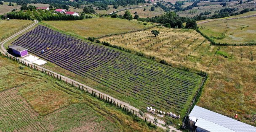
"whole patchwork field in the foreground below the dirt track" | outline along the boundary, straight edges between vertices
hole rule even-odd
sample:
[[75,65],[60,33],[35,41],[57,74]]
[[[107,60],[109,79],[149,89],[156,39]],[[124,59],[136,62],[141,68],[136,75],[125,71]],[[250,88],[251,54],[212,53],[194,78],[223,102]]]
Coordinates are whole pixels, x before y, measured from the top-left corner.
[[45,73],[0,56],[0,131],[162,131]]

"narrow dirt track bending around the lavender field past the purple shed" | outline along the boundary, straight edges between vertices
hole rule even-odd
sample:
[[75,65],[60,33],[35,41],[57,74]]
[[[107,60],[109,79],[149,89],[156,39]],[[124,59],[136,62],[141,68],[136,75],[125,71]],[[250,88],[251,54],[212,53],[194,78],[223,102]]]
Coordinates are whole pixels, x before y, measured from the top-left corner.
[[[19,34],[23,33],[24,31],[27,31],[27,30],[28,30],[29,28],[31,28],[32,26],[35,26],[37,23],[38,23],[38,21],[35,20],[35,23],[33,23],[32,25],[28,26],[27,28],[24,28],[23,30],[19,31],[18,33],[16,33],[16,34],[10,36],[8,39],[5,39],[4,41],[0,42],[0,46],[1,46],[0,52],[2,52],[3,54],[6,54],[6,53],[8,54],[7,50],[3,47],[3,45],[4,45],[7,41],[13,39],[14,37],[18,36]],[[8,56],[11,56],[11,57],[13,58],[13,56],[12,56],[11,54],[8,54]],[[107,94],[105,94],[105,93],[102,93],[102,92],[100,92],[100,91],[98,91],[98,90],[96,90],[96,89],[93,89],[93,88],[91,88],[91,87],[89,87],[89,86],[87,86],[87,85],[84,85],[84,84],[82,84],[82,83],[79,83],[79,82],[77,82],[77,81],[75,81],[75,80],[73,80],[73,79],[71,79],[71,78],[68,78],[68,77],[66,77],[66,76],[60,75],[60,74],[58,74],[58,73],[56,73],[56,72],[53,72],[53,71],[51,71],[51,70],[45,69],[45,68],[43,68],[43,67],[40,67],[39,65],[32,64],[31,62],[29,62],[29,61],[27,61],[27,60],[24,60],[23,58],[19,58],[19,61],[20,61],[20,62],[24,62],[26,65],[29,64],[30,67],[36,68],[37,70],[40,70],[40,71],[43,71],[43,70],[44,70],[45,73],[48,73],[48,75],[50,75],[49,73],[51,73],[51,75],[52,75],[54,78],[60,77],[61,80],[66,81],[66,82],[69,83],[69,84],[74,84],[76,87],[80,87],[81,89],[82,89],[82,88],[85,88],[85,89],[87,88],[87,90],[88,90],[89,93],[91,93],[92,91],[94,91],[94,92],[97,93],[97,95],[101,94],[101,95],[104,96],[105,98],[108,97],[109,99],[113,99],[113,100],[116,101],[118,104],[121,104],[121,106],[126,106],[126,107],[128,108],[128,110],[132,109],[132,110],[134,110],[134,111],[137,111],[137,113],[139,113],[139,109],[137,109],[137,108],[131,106],[130,104],[128,104],[128,103],[126,103],[126,102],[123,102],[123,101],[120,101],[120,100],[118,100],[117,98],[113,98],[112,96],[109,96],[109,95],[107,95]],[[84,90],[85,90],[85,89],[84,89]],[[151,121],[151,122],[153,123],[154,118],[155,118],[154,116],[152,116],[152,115],[149,114],[149,113],[145,113],[145,116],[148,118],[148,121]],[[141,116],[139,116],[139,117],[142,118]],[[142,119],[143,119],[143,118],[142,118]],[[162,129],[166,129],[166,127],[163,126],[164,124],[165,124],[164,121],[158,119],[157,127],[160,127],[160,128],[162,128]],[[176,129],[176,128],[172,127],[172,126],[169,126],[169,129],[170,129],[170,131],[174,130],[174,131],[176,131],[176,132],[181,132],[181,130]]]

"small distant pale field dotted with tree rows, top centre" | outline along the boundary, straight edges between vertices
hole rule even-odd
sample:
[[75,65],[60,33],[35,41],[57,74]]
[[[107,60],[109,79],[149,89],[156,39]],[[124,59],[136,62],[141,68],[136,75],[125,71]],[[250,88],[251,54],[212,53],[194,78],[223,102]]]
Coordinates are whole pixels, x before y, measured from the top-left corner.
[[[139,15],[140,18],[147,18],[147,17],[151,18],[151,17],[161,16],[161,15],[165,14],[164,10],[160,7],[157,7],[157,8],[155,8],[154,11],[151,11],[150,9],[152,6],[153,5],[144,6],[142,8],[129,9],[129,11],[133,15],[133,17],[135,15],[135,12],[137,12],[137,14]],[[146,9],[145,11],[143,11],[144,8]],[[117,13],[117,15],[124,15],[125,11],[126,10],[120,11]]]

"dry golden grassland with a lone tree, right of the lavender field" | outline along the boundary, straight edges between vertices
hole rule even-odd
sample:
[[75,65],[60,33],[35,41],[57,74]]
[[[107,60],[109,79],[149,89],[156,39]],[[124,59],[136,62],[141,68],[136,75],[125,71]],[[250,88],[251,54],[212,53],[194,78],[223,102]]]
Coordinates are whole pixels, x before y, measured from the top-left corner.
[[229,117],[238,114],[242,122],[256,126],[256,47],[213,46],[196,31],[157,28],[102,38],[110,44],[155,56],[174,67],[208,72],[197,105]]

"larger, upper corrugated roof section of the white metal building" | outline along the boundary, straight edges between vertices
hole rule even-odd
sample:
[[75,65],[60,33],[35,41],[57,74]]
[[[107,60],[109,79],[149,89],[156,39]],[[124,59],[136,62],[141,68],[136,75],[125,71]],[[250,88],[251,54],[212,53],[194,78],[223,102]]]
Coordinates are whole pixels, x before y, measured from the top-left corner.
[[235,119],[229,118],[222,114],[218,114],[208,109],[204,109],[199,106],[195,106],[190,112],[189,116],[195,116],[197,119],[205,119],[222,127],[231,129],[235,132],[256,132],[256,127],[245,124],[243,122],[239,122]]

